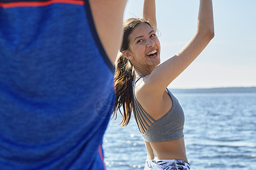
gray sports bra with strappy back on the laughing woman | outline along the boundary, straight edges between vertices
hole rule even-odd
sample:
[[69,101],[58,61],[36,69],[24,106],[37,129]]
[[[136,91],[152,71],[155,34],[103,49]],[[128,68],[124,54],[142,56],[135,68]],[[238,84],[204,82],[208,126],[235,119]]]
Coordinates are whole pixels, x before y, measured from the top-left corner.
[[135,97],[135,84],[137,81],[146,75],[139,76],[133,81],[133,113],[137,122],[139,131],[145,142],[163,142],[184,137],[184,112],[181,108],[179,101],[174,95],[166,88],[168,95],[172,100],[172,108],[163,117],[154,120],[148,115],[141,104]]

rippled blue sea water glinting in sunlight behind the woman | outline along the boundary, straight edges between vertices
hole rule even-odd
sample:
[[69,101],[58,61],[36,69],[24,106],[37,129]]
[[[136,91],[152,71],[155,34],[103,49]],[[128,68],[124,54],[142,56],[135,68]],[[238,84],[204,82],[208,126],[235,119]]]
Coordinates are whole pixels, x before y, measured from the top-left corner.
[[[256,94],[174,94],[185,113],[184,135],[191,169],[256,169]],[[146,148],[134,117],[104,135],[109,170],[143,169]]]

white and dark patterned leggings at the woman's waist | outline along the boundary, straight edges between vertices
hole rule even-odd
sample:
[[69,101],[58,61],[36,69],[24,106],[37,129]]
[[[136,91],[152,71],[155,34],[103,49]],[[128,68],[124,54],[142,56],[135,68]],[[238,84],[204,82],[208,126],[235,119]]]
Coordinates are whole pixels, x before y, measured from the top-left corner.
[[146,160],[144,170],[189,170],[190,165],[184,160],[162,159]]

